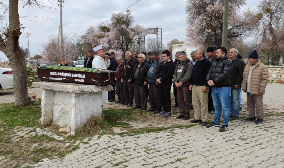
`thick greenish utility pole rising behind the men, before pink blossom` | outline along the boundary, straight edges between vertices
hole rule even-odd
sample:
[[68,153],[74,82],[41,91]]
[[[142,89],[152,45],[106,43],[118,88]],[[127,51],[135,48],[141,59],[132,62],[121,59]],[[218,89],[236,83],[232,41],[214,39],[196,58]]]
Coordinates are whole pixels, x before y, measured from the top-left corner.
[[228,43],[228,21],[229,21],[229,0],[224,0],[223,6],[223,32],[222,32],[222,47],[227,48]]

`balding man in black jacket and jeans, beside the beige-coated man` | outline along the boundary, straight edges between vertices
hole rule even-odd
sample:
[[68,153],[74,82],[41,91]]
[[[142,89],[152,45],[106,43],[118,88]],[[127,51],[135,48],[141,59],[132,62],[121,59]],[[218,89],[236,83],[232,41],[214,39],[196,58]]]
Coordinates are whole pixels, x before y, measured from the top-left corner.
[[232,120],[239,117],[241,86],[246,65],[244,61],[237,58],[237,54],[237,49],[232,48],[229,50],[229,58],[232,61],[230,97],[230,117],[232,117]]

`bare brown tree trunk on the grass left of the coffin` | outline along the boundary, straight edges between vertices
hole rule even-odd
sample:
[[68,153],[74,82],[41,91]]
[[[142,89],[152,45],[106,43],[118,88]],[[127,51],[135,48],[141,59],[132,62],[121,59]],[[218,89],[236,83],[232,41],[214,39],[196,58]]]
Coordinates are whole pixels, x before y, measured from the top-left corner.
[[18,0],[9,0],[9,28],[5,54],[9,58],[13,69],[14,90],[16,105],[30,104],[28,98],[27,68],[25,58],[19,46],[20,20],[18,13]]

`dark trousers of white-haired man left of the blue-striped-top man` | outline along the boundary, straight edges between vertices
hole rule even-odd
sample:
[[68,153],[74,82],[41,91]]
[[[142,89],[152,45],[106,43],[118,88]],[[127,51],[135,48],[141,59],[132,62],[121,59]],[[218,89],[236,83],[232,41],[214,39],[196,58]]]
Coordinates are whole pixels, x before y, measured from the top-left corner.
[[147,107],[147,97],[146,97],[147,86],[140,86],[134,83],[134,97],[135,105],[141,105],[141,107]]

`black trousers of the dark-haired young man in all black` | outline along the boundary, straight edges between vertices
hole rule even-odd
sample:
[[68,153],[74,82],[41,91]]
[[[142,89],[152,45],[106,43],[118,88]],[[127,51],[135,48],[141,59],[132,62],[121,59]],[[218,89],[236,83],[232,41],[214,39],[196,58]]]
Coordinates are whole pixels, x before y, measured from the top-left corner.
[[172,84],[165,83],[159,85],[159,93],[163,111],[169,113],[171,112],[171,88]]

